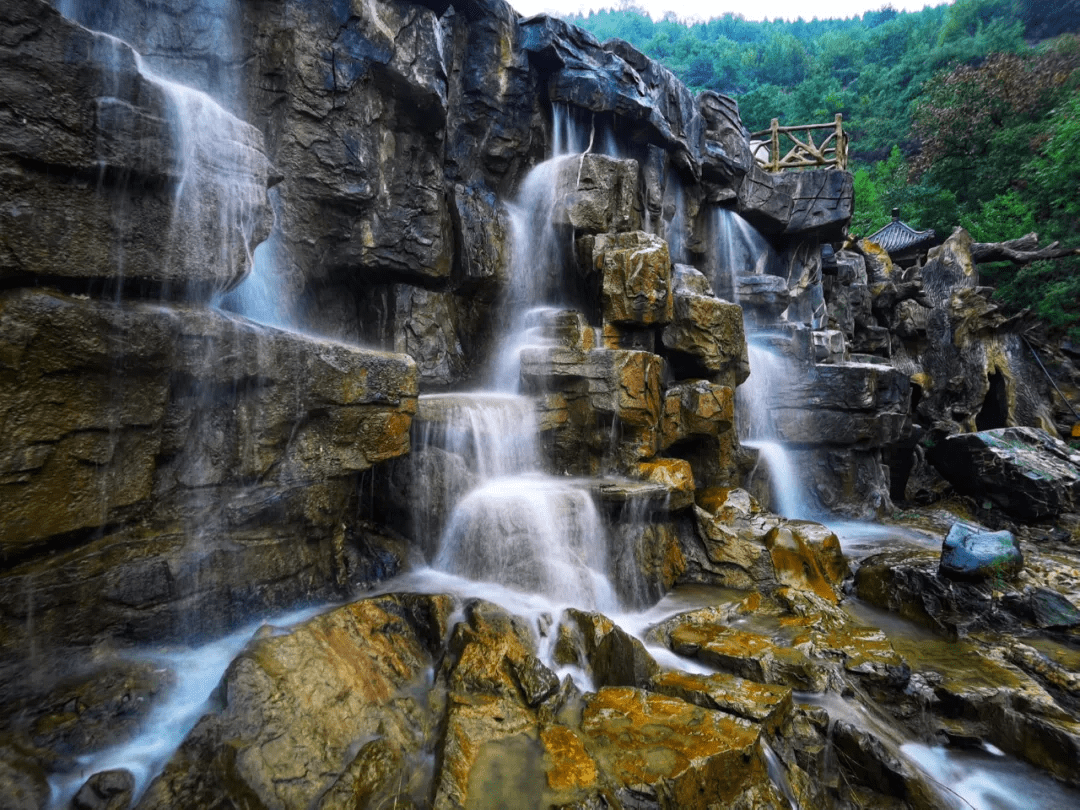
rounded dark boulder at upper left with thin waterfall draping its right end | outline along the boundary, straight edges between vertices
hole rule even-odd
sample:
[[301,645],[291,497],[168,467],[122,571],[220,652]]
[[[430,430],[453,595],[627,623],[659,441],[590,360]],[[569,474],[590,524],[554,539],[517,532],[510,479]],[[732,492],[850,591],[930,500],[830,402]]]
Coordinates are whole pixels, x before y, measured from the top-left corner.
[[0,25],[21,32],[0,44],[0,279],[201,300],[238,284],[273,224],[259,132],[46,3],[5,3]]

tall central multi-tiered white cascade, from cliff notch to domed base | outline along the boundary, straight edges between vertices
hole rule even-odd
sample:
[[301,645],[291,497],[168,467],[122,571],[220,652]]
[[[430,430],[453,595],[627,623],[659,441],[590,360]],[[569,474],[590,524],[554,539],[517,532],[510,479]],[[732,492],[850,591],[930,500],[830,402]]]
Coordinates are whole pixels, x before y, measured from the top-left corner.
[[[440,424],[424,428],[419,445],[465,458],[476,476],[476,486],[447,518],[434,568],[539,593],[556,604],[610,610],[618,600],[607,578],[599,512],[583,482],[540,472],[534,404],[516,393],[521,352],[544,342],[538,321],[565,287],[563,272],[572,245],[554,224],[556,187],[567,164],[580,157],[562,152],[591,148],[595,135],[583,138],[573,124],[556,107],[555,157],[529,172],[508,205],[513,245],[509,324],[490,376],[496,393],[450,395],[453,405],[441,408]],[[429,404],[438,401],[432,397]]]

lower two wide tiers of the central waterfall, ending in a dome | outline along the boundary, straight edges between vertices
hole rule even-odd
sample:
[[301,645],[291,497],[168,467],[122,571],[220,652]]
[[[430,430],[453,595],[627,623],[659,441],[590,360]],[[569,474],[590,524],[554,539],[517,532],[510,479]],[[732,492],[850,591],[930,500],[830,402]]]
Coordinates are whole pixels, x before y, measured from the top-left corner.
[[[460,460],[416,494],[414,526],[438,530],[432,567],[558,604],[611,608],[604,525],[582,482],[540,470],[531,400],[505,393],[421,396],[416,458],[432,448]],[[461,492],[461,477],[474,485]]]

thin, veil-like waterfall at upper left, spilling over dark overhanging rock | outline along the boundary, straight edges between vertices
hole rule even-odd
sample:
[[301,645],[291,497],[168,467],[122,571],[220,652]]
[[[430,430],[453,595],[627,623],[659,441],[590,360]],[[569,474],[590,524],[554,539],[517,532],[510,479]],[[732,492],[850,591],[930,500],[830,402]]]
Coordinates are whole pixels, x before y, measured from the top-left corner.
[[[256,131],[242,116],[246,99],[238,66],[235,0],[215,0],[198,12],[191,53],[170,50],[172,32],[164,10],[141,14],[122,3],[59,0],[57,10],[93,30],[118,56],[104,54],[106,65],[119,65],[123,37],[138,37],[143,51],[132,48],[139,76],[154,85],[166,102],[166,124],[173,177],[173,211],[165,234],[162,264],[177,268],[200,297],[214,294],[219,309],[276,326],[296,326],[284,281],[285,261],[276,225],[265,235],[267,188],[260,181],[267,159],[255,140]],[[99,58],[103,54],[99,54]],[[114,98],[98,100],[104,129],[130,126],[130,116]],[[271,195],[276,208],[276,200]],[[132,214],[135,215],[134,213]],[[117,257],[123,266],[123,255]],[[162,285],[163,297],[185,291]]]

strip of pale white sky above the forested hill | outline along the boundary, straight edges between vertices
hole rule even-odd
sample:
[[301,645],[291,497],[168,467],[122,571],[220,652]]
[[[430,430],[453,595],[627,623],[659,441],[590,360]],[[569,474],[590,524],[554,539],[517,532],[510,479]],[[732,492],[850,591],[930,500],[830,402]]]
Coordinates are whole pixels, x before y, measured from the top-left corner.
[[[746,19],[775,19],[783,17],[810,19],[818,17],[852,17],[863,12],[891,5],[897,11],[915,11],[927,5],[947,5],[951,0],[828,0],[808,3],[806,0],[632,0],[633,5],[647,9],[653,19],[674,11],[679,19],[708,19],[728,12],[742,14]],[[573,14],[588,13],[590,9],[618,8],[619,0],[510,0],[518,14]]]

